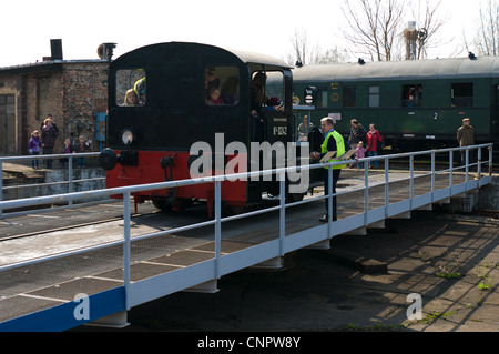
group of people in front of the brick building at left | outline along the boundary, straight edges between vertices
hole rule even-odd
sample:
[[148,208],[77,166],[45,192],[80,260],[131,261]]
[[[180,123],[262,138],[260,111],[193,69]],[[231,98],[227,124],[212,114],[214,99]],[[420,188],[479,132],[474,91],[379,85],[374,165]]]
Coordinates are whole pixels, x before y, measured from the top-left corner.
[[[29,141],[29,152],[31,155],[39,155],[40,152],[43,155],[50,155],[54,153],[83,153],[90,150],[92,145],[92,140],[85,140],[83,135],[80,135],[78,143],[72,144],[69,138],[64,139],[62,149],[60,152],[54,152],[55,142],[59,138],[59,129],[53,122],[52,114],[49,114],[39,130],[34,130],[31,133]],[[65,165],[68,159],[60,159],[60,164]],[[45,169],[52,169],[52,159],[44,160]],[[31,168],[37,170],[40,168],[39,159],[33,159],[31,161]],[[85,158],[78,158],[78,168],[85,168]]]

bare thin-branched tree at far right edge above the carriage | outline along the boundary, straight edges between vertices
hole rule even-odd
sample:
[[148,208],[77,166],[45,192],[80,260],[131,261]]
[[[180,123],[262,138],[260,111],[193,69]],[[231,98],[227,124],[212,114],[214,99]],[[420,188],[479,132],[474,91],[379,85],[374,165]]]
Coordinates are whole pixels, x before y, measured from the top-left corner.
[[486,9],[480,4],[479,13],[473,44],[481,55],[499,55],[499,1],[489,0]]

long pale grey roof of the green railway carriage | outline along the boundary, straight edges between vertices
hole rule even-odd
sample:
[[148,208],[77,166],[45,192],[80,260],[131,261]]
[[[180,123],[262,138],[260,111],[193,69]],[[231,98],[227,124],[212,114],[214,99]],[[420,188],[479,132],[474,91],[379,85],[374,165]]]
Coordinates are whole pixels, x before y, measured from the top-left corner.
[[305,65],[293,70],[294,81],[334,82],[437,78],[499,78],[499,57]]

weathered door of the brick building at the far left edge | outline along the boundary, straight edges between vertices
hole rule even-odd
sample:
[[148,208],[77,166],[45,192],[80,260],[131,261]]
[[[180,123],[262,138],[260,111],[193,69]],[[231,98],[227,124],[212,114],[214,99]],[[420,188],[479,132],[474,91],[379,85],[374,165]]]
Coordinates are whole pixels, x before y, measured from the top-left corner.
[[0,94],[0,154],[16,154],[16,95]]

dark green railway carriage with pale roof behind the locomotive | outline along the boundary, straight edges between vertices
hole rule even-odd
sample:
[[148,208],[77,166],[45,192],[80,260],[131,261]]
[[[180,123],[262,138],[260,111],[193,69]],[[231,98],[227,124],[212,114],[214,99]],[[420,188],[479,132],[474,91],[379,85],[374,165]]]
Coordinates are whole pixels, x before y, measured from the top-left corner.
[[469,118],[477,142],[498,142],[499,57],[305,65],[293,80],[296,103],[305,104],[305,88],[317,89],[312,122],[330,115],[346,136],[357,119],[395,146],[456,145]]

